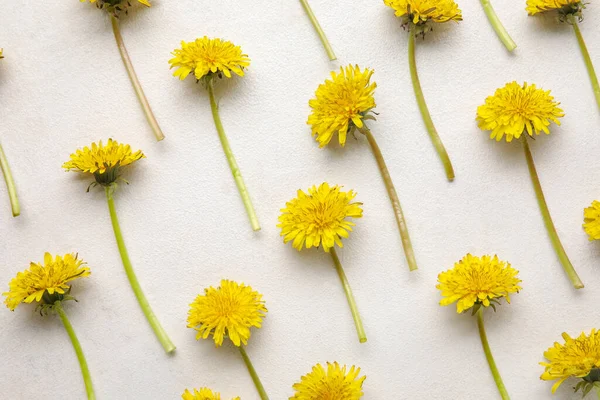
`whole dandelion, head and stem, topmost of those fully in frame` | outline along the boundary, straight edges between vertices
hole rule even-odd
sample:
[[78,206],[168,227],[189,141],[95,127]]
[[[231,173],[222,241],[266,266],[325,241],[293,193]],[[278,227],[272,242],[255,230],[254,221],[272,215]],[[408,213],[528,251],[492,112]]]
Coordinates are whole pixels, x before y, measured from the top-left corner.
[[206,36],[193,42],[182,41],[181,48],[175,49],[172,54],[173,58],[169,60],[169,64],[172,69],[175,68],[173,76],[184,80],[193,75],[196,81],[202,83],[208,91],[212,116],[223,152],[244,203],[250,226],[252,230],[258,231],[260,230],[258,217],[242,177],[242,172],[233,156],[229,139],[225,134],[219,114],[219,105],[215,98],[215,82],[223,77],[231,78],[234,74],[244,76],[244,69],[250,65],[250,59],[239,46],[227,40],[210,39]]

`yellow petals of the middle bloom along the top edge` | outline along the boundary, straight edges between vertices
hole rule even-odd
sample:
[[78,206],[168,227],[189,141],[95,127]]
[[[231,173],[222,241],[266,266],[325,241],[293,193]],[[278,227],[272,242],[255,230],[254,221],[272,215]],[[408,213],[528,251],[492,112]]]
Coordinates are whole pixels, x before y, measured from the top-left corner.
[[462,12],[454,0],[383,0],[397,17],[415,25],[427,21],[462,21]]

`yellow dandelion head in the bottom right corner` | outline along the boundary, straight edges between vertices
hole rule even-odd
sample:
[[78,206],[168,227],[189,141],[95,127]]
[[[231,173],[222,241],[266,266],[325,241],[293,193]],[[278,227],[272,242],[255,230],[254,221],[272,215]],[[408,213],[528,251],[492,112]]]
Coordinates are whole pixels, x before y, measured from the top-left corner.
[[[562,334],[564,344],[554,343],[544,352],[548,362],[541,362],[545,371],[540,377],[545,381],[558,380],[552,386],[552,393],[568,378],[583,378],[576,391],[582,389],[584,393],[591,390],[594,383],[600,381],[600,331],[592,329],[588,335],[581,333],[577,339],[568,334]],[[590,386],[587,388],[586,386]]]

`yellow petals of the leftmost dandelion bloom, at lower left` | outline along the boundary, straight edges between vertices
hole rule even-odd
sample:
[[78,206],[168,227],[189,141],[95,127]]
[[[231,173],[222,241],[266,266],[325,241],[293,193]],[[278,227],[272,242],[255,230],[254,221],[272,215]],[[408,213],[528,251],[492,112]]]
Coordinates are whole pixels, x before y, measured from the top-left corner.
[[90,275],[90,269],[76,255],[52,257],[44,254],[44,262],[31,263],[29,269],[19,272],[9,283],[6,306],[14,311],[21,303],[34,301],[48,304],[48,301],[60,300],[60,295],[69,293],[69,282]]

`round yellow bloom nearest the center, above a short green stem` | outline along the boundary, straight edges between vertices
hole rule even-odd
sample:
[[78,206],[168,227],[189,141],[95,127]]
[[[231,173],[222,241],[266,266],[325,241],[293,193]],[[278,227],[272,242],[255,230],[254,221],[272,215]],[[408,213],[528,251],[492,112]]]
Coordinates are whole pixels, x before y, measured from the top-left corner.
[[355,225],[347,218],[362,217],[362,203],[353,203],[354,197],[352,190],[343,192],[327,182],[308,189],[308,194],[298,190],[298,197],[287,202],[279,216],[283,242],[293,241],[298,250],[322,245],[329,252],[336,244],[343,247],[342,238],[347,238]]

